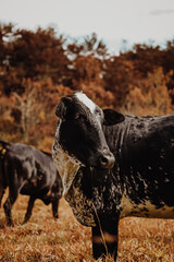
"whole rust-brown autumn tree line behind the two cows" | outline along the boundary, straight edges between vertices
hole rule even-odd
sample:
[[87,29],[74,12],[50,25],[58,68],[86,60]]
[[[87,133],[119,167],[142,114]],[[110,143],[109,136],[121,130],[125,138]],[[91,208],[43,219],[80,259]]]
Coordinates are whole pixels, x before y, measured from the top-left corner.
[[35,145],[47,138],[47,146],[55,104],[77,90],[101,107],[134,115],[171,112],[174,39],[164,48],[136,44],[116,56],[95,33],[79,41],[51,27],[34,32],[0,24],[1,136]]

